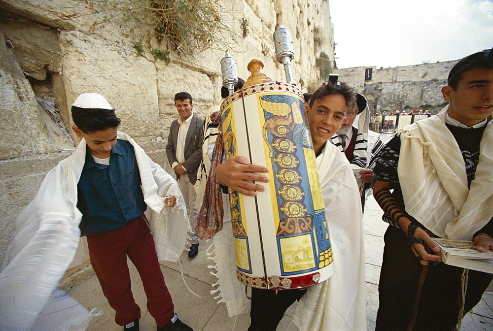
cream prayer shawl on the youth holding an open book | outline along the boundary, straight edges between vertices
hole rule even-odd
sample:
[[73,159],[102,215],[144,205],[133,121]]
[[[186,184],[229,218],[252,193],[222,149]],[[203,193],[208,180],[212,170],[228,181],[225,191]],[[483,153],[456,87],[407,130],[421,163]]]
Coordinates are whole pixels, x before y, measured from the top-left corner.
[[397,166],[406,211],[443,238],[471,240],[493,215],[493,121],[481,139],[475,179],[467,187],[464,159],[438,115],[404,127]]

